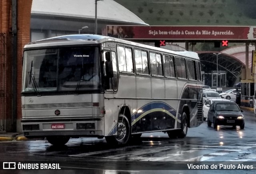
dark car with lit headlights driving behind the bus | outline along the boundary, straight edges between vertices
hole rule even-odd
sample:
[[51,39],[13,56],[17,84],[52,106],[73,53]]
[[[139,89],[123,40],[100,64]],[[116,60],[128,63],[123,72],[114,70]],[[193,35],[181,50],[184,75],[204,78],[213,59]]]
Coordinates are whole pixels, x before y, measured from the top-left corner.
[[208,112],[207,124],[210,127],[213,123],[215,129],[218,125],[233,126],[233,128],[240,126],[240,129],[244,129],[244,115],[242,112],[235,102],[219,101],[213,103]]

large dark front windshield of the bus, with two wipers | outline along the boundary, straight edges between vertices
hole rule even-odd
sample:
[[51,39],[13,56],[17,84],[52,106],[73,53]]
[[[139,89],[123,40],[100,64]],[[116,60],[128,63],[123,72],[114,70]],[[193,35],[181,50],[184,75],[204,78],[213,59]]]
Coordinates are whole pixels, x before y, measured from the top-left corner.
[[95,46],[25,51],[22,92],[98,90],[99,57]]

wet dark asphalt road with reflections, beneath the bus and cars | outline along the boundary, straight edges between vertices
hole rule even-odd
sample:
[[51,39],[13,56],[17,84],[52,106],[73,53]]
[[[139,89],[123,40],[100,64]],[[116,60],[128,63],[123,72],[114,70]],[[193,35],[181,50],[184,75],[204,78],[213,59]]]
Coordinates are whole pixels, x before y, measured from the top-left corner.
[[[248,164],[256,168],[256,118],[244,111],[245,128],[236,130],[219,126],[218,130],[204,122],[189,128],[186,138],[170,139],[162,132],[142,134],[127,146],[113,147],[104,139],[77,138],[62,147],[47,140],[0,142],[0,161],[48,161],[60,163],[68,170],[3,170],[0,173],[174,173],[174,174],[250,174],[256,170],[187,170],[187,164]],[[180,164],[181,163],[181,164]],[[227,165],[228,166],[228,165]],[[89,170],[90,169],[90,170]],[[186,170],[184,170],[186,169]]]

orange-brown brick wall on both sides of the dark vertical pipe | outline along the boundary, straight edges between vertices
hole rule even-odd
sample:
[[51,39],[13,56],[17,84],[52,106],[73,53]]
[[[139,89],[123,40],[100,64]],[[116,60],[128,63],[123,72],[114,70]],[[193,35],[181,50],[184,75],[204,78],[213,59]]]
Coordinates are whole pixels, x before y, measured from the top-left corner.
[[[17,0],[17,119],[22,117],[20,92],[22,88],[23,47],[30,42],[30,13],[32,0]],[[12,0],[0,0],[0,33],[6,44],[0,43],[0,119],[6,120],[6,131],[12,123]]]

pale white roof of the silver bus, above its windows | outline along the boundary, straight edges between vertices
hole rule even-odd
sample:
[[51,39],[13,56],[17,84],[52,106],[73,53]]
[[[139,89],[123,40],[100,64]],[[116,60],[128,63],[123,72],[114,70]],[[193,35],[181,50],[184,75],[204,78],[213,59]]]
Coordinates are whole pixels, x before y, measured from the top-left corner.
[[95,34],[72,34],[72,35],[56,36],[53,38],[47,38],[43,40],[30,42],[26,44],[24,48],[26,49],[26,48],[36,48],[36,47],[49,47],[49,46],[100,44],[107,41],[118,42],[118,43],[128,44],[132,46],[138,46],[141,48],[147,48],[151,50],[166,52],[166,53],[180,55],[180,56],[187,56],[187,57],[199,60],[198,54],[196,52],[166,50],[164,48],[158,48],[150,45],[140,44],[137,42],[132,42],[132,41],[123,40],[119,38],[113,38],[109,36],[95,35]]

